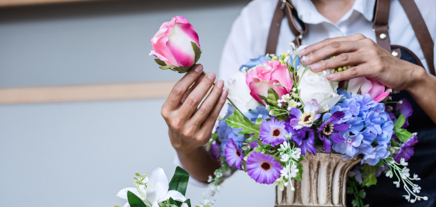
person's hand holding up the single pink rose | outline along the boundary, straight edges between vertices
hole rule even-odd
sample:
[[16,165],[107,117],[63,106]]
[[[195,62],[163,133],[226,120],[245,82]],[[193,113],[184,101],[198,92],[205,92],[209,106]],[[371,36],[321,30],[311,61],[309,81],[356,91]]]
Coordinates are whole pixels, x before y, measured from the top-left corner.
[[215,121],[228,95],[228,90],[223,90],[224,81],[219,80],[197,110],[216,77],[213,72],[203,76],[202,71],[201,65],[189,70],[174,85],[161,110],[169,128],[172,146],[185,156],[209,141]]

